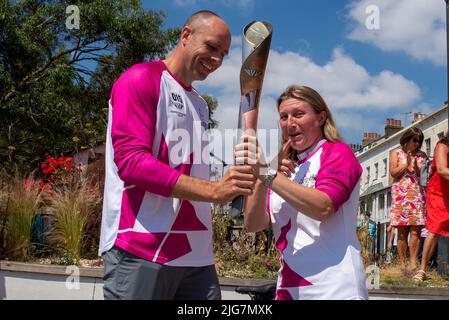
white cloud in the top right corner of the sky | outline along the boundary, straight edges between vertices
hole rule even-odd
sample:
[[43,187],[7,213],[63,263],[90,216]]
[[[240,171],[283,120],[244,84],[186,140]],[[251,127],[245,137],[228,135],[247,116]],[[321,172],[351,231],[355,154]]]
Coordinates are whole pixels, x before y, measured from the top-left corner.
[[[369,30],[365,23],[379,8],[380,28]],[[349,6],[348,18],[355,23],[349,39],[369,43],[383,51],[404,51],[418,60],[446,64],[445,2],[442,0],[362,0]]]

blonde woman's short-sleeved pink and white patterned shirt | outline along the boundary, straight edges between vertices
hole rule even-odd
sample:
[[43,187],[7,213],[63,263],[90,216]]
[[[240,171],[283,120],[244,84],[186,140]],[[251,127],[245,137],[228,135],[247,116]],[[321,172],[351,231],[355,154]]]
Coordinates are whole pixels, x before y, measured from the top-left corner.
[[356,235],[362,168],[342,142],[321,140],[298,158],[290,179],[326,193],[335,212],[320,222],[269,191],[267,211],[282,252],[276,299],[367,299]]

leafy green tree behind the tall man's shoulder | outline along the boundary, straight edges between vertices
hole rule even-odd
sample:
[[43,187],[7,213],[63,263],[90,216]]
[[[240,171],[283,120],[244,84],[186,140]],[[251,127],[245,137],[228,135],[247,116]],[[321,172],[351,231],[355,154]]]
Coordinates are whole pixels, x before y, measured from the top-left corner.
[[177,42],[164,19],[138,0],[0,0],[0,167],[27,171],[46,152],[103,141],[113,82]]

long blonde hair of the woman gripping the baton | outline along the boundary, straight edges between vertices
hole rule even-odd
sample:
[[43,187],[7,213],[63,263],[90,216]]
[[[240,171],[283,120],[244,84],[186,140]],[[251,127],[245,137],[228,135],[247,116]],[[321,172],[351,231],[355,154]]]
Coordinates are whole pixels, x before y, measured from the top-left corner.
[[[321,113],[322,111],[325,111],[326,121],[321,127],[324,138],[332,142],[343,141],[335,125],[332,113],[330,112],[326,102],[324,102],[324,99],[320,96],[318,92],[307,86],[299,86],[299,85],[289,86],[287,89],[285,89],[285,91],[279,96],[277,100],[278,110],[281,103],[287,99],[297,99],[300,101],[305,101],[315,110],[316,113]],[[284,142],[286,141],[286,137],[283,137],[283,141]],[[291,149],[289,154],[290,159],[295,160],[297,151]]]

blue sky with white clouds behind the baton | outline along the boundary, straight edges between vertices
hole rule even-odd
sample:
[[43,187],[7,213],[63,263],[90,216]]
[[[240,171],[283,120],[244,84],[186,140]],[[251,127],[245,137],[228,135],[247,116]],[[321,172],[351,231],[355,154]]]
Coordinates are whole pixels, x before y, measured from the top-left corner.
[[[275,128],[278,95],[290,84],[318,90],[348,143],[363,132],[383,134],[386,118],[430,113],[447,96],[444,0],[151,0],[167,14],[164,28],[181,27],[209,9],[229,24],[230,55],[205,82],[194,83],[219,101],[220,128],[236,126],[240,99],[241,33],[253,20],[273,25],[259,123]],[[378,8],[379,20],[372,7]],[[368,10],[368,11],[366,11]],[[375,24],[379,22],[378,27]],[[367,27],[367,22],[370,28]],[[374,27],[374,29],[373,29]]]

